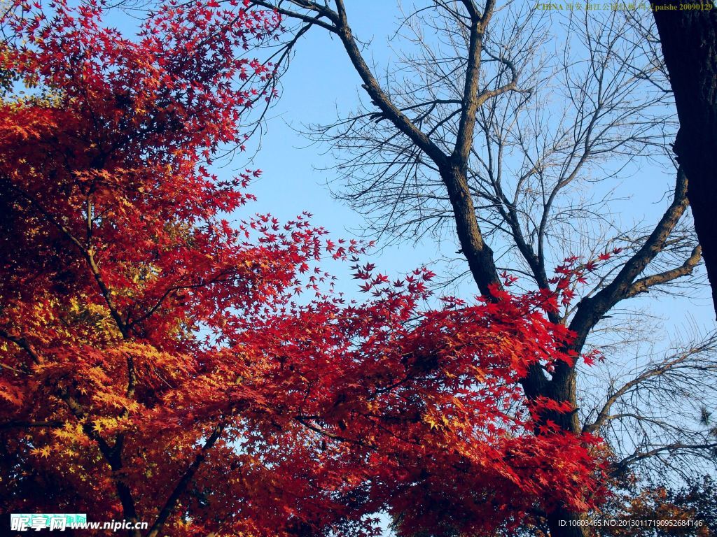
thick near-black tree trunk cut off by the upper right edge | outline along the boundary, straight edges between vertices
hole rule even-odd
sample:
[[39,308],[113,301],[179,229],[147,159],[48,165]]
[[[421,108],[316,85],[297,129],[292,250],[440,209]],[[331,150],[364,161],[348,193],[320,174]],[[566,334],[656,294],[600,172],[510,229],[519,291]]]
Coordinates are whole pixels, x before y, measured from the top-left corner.
[[680,118],[675,155],[690,178],[688,198],[717,311],[717,9],[705,0],[650,4]]

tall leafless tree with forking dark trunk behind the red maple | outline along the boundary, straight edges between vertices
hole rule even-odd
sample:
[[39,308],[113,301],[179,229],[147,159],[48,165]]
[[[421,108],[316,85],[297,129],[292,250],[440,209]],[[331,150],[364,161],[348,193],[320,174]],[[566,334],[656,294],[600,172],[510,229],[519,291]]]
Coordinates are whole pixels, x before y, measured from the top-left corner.
[[[577,304],[551,314],[576,332],[576,352],[589,337],[592,346],[604,342],[606,326],[619,329],[609,318],[632,309],[627,299],[695,283],[701,247],[685,222],[688,177],[668,145],[673,96],[654,37],[644,39],[653,35],[645,18],[581,12],[556,21],[518,2],[427,0],[404,13],[396,62],[379,73],[343,0],[253,4],[277,9],[296,32],[317,27],[337,37],[361,77],[359,110],[312,133],[335,151],[338,195],[369,215],[369,231],[400,241],[456,233],[468,274],[489,297],[502,269],[523,274],[526,287],[552,289],[551,268],[563,258],[616,248]],[[675,178],[663,216],[620,223],[614,185],[648,160]],[[604,432],[616,472],[665,462],[667,453],[713,461],[708,429],[685,423],[705,392],[713,404],[713,349],[708,338],[666,357],[640,356],[632,377],[607,368],[587,394],[578,390],[582,369],[568,364],[552,374],[536,367],[522,384],[528,397],[579,409],[546,420]],[[608,358],[619,366],[625,357]],[[675,401],[680,410],[670,415]],[[582,534],[559,526],[581,515],[560,507],[545,514],[552,535]]]

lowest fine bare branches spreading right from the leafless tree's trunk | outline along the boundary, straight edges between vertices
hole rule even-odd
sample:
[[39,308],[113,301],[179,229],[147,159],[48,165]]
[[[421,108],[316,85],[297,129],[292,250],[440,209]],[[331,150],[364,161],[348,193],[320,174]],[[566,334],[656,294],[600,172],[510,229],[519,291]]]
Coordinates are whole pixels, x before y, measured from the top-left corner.
[[614,447],[613,475],[643,461],[690,480],[696,467],[707,471],[717,451],[710,410],[717,394],[705,388],[717,380],[717,337],[695,337],[666,352],[638,349],[634,359],[596,372],[608,390],[584,405],[590,410],[583,430],[601,431]]

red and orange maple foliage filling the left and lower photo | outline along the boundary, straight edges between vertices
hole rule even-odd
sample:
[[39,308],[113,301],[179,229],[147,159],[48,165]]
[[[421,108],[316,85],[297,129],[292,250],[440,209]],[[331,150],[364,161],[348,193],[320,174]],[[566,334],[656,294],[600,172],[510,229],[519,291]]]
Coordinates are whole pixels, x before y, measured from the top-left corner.
[[[91,1],[4,16],[3,510],[137,536],[370,533],[388,511],[402,535],[475,535],[594,504],[599,442],[519,385],[576,359],[543,315],[569,296],[429,310],[430,271],[389,281],[308,215],[229,223],[259,172],[211,159],[275,97],[242,51],[280,18],[248,5],[168,4],[132,40]],[[331,291],[327,256],[370,298]]]

